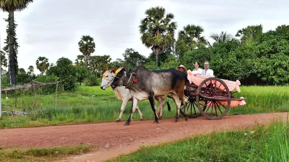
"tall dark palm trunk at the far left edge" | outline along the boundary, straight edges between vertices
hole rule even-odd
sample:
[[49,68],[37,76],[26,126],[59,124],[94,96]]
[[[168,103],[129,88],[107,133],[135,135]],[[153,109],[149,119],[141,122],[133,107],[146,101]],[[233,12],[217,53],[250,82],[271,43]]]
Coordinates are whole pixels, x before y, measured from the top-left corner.
[[15,60],[14,60],[14,11],[9,12],[9,57],[11,84],[15,85]]

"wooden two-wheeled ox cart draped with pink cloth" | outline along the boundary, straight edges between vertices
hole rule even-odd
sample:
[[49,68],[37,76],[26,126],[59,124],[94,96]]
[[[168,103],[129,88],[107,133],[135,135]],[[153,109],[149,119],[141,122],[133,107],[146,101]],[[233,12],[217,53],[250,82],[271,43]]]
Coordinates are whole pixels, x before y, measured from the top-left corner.
[[[188,80],[184,91],[188,97],[187,114],[189,118],[204,116],[207,119],[221,119],[230,107],[244,105],[245,98],[236,98],[234,93],[240,92],[240,82],[224,80],[210,76],[194,76],[188,70]],[[235,92],[232,92],[236,88]],[[180,114],[185,115],[185,106],[181,105]]]

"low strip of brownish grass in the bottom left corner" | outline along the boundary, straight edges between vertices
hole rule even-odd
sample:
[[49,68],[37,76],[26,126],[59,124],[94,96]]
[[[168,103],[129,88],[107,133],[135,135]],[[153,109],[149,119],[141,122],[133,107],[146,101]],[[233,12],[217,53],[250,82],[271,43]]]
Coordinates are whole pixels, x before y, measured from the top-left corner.
[[0,147],[0,161],[52,161],[70,155],[88,153],[96,148],[96,146],[88,144],[30,149],[4,149]]

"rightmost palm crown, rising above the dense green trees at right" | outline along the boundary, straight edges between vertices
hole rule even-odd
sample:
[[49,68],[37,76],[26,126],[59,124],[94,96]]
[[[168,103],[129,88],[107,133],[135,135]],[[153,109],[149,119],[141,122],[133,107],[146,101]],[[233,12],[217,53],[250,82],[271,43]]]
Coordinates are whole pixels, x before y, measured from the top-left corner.
[[251,25],[238,30],[235,36],[241,37],[241,43],[248,45],[251,41],[256,41],[263,33],[263,25]]

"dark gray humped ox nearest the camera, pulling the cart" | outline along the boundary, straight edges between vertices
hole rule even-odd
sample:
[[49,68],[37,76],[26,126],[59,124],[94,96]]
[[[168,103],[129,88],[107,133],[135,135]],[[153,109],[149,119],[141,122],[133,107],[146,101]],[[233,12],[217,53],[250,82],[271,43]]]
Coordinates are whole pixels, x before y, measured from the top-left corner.
[[[155,114],[154,124],[158,124],[159,117],[156,113],[155,98],[159,97],[164,100],[169,94],[172,96],[177,109],[174,121],[177,121],[179,118],[180,100],[182,100],[185,105],[185,119],[188,120],[188,99],[184,95],[185,84],[186,75],[176,69],[148,70],[146,67],[140,65],[133,73],[129,73],[128,75],[126,74],[125,68],[118,69],[111,86],[112,88],[126,86],[133,96],[131,114],[125,123],[125,125],[129,125],[138,100],[142,101],[146,99],[149,99]],[[160,104],[163,104],[163,102],[160,102]]]

